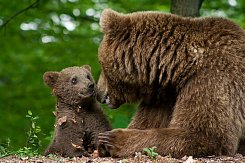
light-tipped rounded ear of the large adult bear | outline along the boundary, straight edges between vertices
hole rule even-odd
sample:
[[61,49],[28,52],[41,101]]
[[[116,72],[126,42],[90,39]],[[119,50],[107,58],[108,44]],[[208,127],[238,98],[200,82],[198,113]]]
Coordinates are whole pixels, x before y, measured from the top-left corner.
[[111,36],[117,36],[118,32],[128,30],[130,18],[112,9],[104,9],[100,17],[102,32]]

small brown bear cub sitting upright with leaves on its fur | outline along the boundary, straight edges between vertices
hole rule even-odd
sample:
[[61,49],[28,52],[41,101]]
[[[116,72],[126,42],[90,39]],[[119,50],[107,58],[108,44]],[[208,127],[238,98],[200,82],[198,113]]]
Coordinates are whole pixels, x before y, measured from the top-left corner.
[[46,72],[44,81],[57,97],[54,139],[45,155],[89,156],[98,148],[98,134],[111,130],[96,103],[96,85],[90,67]]

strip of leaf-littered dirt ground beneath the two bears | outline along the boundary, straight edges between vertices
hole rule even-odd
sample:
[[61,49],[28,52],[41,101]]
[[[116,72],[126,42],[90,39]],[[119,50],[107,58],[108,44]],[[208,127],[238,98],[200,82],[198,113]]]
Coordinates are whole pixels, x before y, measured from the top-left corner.
[[4,158],[0,158],[1,163],[49,163],[49,162],[55,162],[55,163],[72,163],[72,162],[79,162],[79,163],[245,163],[245,157],[243,157],[241,154],[236,154],[234,157],[214,157],[210,156],[207,158],[193,158],[192,156],[185,156],[182,159],[174,159],[170,158],[168,156],[162,157],[157,156],[155,159],[151,159],[146,155],[142,155],[140,153],[137,153],[135,157],[131,158],[111,158],[111,157],[97,157],[97,158],[90,158],[90,157],[74,157],[74,158],[64,158],[64,157],[16,157],[16,156],[8,156]]

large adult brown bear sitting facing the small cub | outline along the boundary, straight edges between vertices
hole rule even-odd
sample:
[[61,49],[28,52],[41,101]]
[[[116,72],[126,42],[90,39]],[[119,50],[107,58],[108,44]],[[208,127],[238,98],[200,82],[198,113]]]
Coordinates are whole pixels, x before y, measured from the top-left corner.
[[[99,99],[140,101],[128,129],[99,135],[113,157],[233,155],[245,129],[245,32],[224,18],[102,13]],[[108,95],[108,96],[107,96]]]

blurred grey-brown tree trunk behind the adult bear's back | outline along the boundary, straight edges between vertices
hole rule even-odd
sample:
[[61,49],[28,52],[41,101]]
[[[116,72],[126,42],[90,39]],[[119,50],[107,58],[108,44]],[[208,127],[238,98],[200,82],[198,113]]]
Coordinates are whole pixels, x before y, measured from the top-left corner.
[[200,16],[199,10],[204,0],[172,0],[171,13],[187,16],[198,17]]

